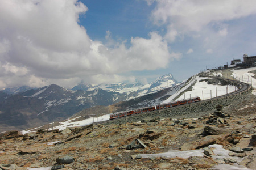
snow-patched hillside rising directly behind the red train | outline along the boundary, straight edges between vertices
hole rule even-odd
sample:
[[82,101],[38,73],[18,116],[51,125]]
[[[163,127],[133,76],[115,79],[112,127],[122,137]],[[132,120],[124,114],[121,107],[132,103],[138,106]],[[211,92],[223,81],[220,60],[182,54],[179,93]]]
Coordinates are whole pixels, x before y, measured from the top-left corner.
[[[214,76],[217,76],[218,74],[220,74],[221,76],[223,76],[224,74],[229,74],[229,78],[233,79],[231,76],[232,74],[247,75],[248,73],[250,73],[249,71],[251,70],[256,70],[256,68],[252,67],[250,69],[219,70],[212,71],[212,73],[209,74]],[[251,80],[254,82],[255,79],[253,78],[253,75],[254,74],[250,73]],[[238,89],[233,85],[227,85],[225,82],[220,82],[215,78],[200,77],[199,74],[196,74],[189,78],[186,82],[180,83],[178,86],[175,87],[166,88],[164,90],[144,95],[142,97],[137,97],[135,99],[122,101],[113,105],[109,105],[108,107],[93,107],[90,109],[84,109],[81,112],[74,114],[70,119],[60,122],[54,122],[53,126],[60,130],[63,130],[66,126],[72,127],[89,125],[92,124],[92,122],[109,120],[109,114],[113,112],[126,111],[135,108],[143,108],[146,106],[155,105],[156,103],[160,104],[174,100],[180,100],[184,99],[184,96],[186,98],[189,98],[190,96],[200,96],[201,100],[206,100],[210,99],[210,91],[212,91],[212,97],[216,97],[216,90],[217,96],[225,95],[227,92],[227,86],[228,92],[232,92]],[[202,91],[204,92],[204,97],[202,96]],[[46,128],[50,127],[51,126],[46,126]],[[30,131],[31,129],[33,128],[27,129],[26,131]]]

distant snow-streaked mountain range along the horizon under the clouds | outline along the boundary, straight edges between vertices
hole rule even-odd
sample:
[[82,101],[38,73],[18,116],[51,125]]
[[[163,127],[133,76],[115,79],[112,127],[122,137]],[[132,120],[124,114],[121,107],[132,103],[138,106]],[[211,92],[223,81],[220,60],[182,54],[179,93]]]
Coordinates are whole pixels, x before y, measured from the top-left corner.
[[[37,89],[24,86],[6,88],[0,91],[0,132],[61,121],[83,109],[98,106],[118,103],[115,108],[117,111],[127,107],[145,107],[151,105],[152,100],[160,102],[166,99],[170,91],[179,88],[177,84],[179,82],[167,74],[146,85],[139,82],[98,85],[81,83],[71,90],[56,84]],[[112,109],[106,111],[111,112]]]

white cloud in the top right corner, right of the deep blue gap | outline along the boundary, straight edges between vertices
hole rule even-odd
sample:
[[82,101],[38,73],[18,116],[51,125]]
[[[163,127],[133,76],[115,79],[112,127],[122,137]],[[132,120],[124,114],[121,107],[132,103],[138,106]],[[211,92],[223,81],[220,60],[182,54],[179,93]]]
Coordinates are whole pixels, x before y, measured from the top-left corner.
[[157,7],[152,12],[154,22],[180,28],[183,32],[200,31],[212,22],[225,22],[256,13],[256,2],[253,0],[156,0],[156,2]]

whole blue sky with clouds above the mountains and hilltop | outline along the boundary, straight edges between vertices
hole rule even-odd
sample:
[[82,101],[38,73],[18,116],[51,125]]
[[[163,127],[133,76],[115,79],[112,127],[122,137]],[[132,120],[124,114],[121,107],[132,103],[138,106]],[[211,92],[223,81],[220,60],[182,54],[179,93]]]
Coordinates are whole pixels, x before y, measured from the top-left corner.
[[178,81],[256,55],[254,0],[0,0],[0,90]]

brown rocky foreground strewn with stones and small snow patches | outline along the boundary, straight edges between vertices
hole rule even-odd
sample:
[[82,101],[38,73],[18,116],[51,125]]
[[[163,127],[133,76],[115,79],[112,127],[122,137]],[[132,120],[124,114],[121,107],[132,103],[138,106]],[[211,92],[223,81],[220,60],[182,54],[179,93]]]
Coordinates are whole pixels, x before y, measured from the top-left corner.
[[9,131],[0,134],[0,169],[256,169],[255,101],[190,118]]

